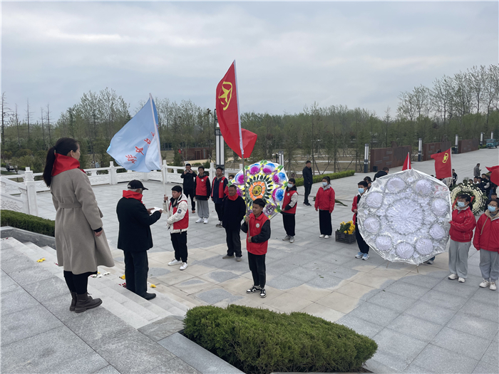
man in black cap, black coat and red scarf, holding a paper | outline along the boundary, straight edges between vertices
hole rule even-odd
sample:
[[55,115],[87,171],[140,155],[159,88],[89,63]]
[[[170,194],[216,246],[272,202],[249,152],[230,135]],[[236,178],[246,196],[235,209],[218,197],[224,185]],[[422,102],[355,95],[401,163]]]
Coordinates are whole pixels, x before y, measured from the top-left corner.
[[116,206],[120,228],[118,233],[118,249],[125,254],[126,288],[146,300],[155,298],[148,289],[148,249],[153,246],[150,225],[161,217],[163,210],[150,213],[153,208],[145,209],[142,202],[144,187],[139,180],[128,183],[128,190]]

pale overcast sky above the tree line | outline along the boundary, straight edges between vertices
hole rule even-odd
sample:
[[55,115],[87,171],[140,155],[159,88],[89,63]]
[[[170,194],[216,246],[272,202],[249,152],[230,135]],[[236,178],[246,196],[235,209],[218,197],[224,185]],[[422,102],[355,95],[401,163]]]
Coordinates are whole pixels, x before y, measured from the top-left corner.
[[396,112],[397,96],[498,63],[498,2],[5,2],[1,90],[24,118],[113,88],[215,108],[237,61],[240,109]]

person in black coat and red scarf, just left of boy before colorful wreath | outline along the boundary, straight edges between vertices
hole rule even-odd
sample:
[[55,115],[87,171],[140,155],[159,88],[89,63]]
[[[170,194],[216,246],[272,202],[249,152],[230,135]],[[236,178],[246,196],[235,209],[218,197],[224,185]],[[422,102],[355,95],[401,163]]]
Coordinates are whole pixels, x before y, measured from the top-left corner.
[[235,185],[229,186],[229,196],[224,200],[223,208],[222,225],[227,236],[227,254],[222,259],[233,259],[235,254],[236,261],[241,261],[240,229],[241,221],[246,214],[246,204],[245,200],[237,194]]

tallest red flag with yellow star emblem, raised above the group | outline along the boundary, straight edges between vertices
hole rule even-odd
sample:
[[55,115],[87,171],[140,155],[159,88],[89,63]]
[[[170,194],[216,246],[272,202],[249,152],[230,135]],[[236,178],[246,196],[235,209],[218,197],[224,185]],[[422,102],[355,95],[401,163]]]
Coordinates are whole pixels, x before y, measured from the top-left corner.
[[220,132],[231,150],[239,157],[249,157],[253,152],[257,134],[241,128],[239,100],[237,98],[236,61],[217,85],[217,117]]

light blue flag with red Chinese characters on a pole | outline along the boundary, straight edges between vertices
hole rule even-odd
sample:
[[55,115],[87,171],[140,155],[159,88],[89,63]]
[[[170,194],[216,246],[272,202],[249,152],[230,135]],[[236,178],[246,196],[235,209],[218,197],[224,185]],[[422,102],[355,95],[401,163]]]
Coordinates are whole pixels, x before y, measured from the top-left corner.
[[150,172],[161,169],[158,113],[153,97],[111,139],[108,154],[126,170]]

